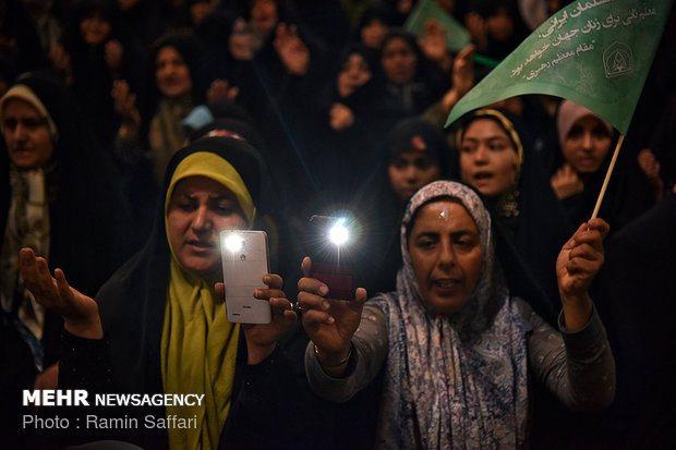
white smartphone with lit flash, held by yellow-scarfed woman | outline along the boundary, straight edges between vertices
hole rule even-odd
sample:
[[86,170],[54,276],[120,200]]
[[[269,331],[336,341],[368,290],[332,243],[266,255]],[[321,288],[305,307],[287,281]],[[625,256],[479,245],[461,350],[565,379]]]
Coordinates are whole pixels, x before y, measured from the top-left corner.
[[267,289],[263,283],[263,276],[269,272],[265,231],[225,230],[220,233],[220,248],[228,320],[273,321],[269,302],[253,296],[254,289]]

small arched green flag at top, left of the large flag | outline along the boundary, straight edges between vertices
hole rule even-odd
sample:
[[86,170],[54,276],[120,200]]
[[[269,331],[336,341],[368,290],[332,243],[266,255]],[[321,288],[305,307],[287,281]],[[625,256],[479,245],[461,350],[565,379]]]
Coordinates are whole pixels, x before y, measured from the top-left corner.
[[446,45],[450,51],[460,51],[470,44],[470,34],[434,0],[423,0],[411,11],[403,28],[422,38],[425,23],[434,19],[446,31]]

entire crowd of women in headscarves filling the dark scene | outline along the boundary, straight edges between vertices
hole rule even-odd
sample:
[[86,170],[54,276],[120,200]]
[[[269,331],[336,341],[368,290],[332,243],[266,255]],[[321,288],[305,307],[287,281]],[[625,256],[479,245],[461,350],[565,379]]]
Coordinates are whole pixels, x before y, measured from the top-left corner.
[[[676,443],[674,13],[591,219],[618,137],[602,117],[531,95],[443,126],[491,69],[474,56],[505,58],[564,4],[436,2],[471,45],[450,51],[434,21],[406,31],[415,1],[0,8],[9,445]],[[311,275],[315,214],[351,226],[351,300]],[[270,324],[226,317],[226,229],[268,235],[252,295]],[[57,388],[204,402],[22,405]]]

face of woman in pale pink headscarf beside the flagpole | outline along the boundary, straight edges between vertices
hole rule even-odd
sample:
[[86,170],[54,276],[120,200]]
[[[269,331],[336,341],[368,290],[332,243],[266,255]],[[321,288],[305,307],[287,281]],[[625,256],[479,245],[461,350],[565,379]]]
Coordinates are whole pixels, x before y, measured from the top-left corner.
[[594,173],[611,149],[611,135],[599,118],[586,115],[568,132],[564,158],[578,173]]

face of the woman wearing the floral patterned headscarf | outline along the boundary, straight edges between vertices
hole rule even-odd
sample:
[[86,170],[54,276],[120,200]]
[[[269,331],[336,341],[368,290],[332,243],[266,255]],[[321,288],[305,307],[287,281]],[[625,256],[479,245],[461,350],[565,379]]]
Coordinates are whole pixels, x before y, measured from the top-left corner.
[[481,273],[481,236],[464,206],[439,200],[418,211],[409,255],[420,293],[439,314],[461,311]]

